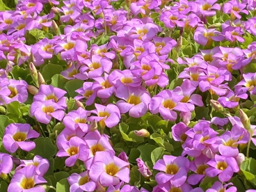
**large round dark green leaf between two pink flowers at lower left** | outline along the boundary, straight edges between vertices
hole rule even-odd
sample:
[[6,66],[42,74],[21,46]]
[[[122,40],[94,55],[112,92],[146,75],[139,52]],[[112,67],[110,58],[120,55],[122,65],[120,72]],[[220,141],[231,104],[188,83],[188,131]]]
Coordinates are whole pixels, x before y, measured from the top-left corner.
[[35,138],[35,148],[31,153],[38,154],[43,158],[49,159],[56,154],[56,146],[51,142],[50,138]]

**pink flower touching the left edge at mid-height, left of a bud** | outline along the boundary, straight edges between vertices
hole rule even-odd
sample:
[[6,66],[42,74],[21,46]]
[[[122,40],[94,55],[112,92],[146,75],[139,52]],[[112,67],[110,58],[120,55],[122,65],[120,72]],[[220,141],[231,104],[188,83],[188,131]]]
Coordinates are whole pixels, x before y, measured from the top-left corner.
[[[4,83],[3,86],[5,86],[6,83]],[[8,89],[10,90],[10,92],[8,93],[10,93],[10,95],[6,95],[7,92],[5,90],[4,92],[2,92],[3,95],[1,95],[1,99],[6,104],[9,104],[10,102],[14,101],[24,103],[26,102],[26,99],[28,99],[28,91],[26,90],[27,86],[28,84],[24,80],[10,79],[8,84]]]

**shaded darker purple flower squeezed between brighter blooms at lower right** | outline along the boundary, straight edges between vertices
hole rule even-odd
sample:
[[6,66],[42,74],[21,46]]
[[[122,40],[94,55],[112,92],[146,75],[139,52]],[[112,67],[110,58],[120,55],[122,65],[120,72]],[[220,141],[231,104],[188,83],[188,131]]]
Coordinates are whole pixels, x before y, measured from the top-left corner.
[[189,175],[187,179],[189,184],[198,184],[198,182],[205,178],[205,169],[209,168],[207,165],[209,160],[211,159],[206,157],[204,154],[201,154],[199,157],[195,157],[195,160],[191,161],[189,169],[196,174]]

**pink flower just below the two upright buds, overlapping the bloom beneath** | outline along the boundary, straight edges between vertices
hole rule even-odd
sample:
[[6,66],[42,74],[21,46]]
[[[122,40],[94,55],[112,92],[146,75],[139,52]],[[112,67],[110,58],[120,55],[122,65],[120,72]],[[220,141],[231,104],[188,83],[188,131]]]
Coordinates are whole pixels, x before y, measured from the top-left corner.
[[62,106],[63,109],[67,107],[66,99],[67,97],[63,97],[67,92],[62,90],[61,88],[54,88],[50,85],[40,85],[38,89],[38,93],[33,97],[34,102],[42,102],[47,100],[52,100],[56,102],[59,106]]

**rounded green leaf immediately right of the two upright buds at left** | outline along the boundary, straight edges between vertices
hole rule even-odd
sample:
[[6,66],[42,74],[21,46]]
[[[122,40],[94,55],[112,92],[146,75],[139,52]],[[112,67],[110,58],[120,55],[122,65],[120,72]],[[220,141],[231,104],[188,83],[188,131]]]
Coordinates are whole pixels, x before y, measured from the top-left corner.
[[60,74],[62,71],[63,67],[61,67],[61,65],[49,63],[42,67],[42,77],[44,77],[45,81],[51,81],[51,77],[53,77],[54,74]]

